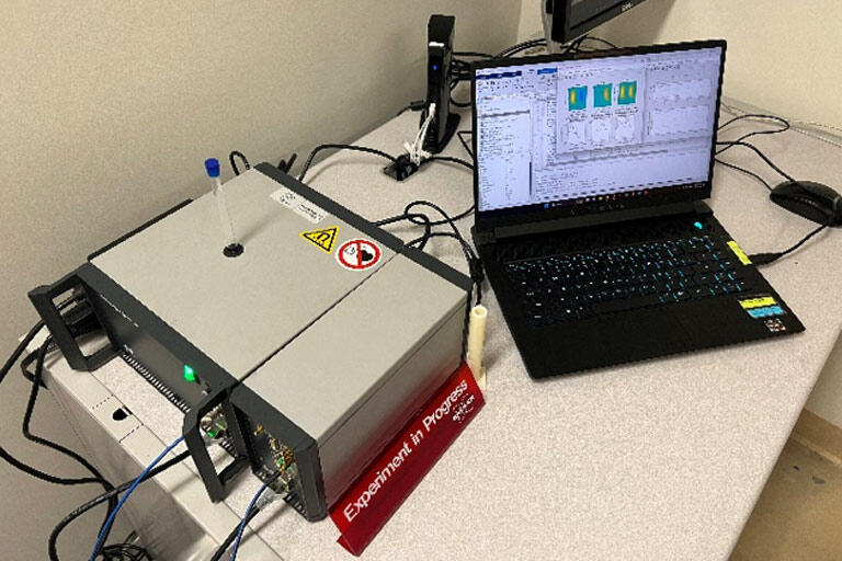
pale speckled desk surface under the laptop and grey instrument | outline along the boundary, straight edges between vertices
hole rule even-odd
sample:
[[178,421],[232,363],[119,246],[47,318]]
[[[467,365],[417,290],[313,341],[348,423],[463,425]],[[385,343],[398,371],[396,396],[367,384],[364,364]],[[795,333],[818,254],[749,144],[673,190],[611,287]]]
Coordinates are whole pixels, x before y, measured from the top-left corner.
[[[359,144],[396,152],[417,126],[406,114]],[[758,145],[793,175],[840,186],[834,147],[796,131]],[[466,156],[456,140],[447,153]],[[748,150],[722,158],[777,180]],[[471,175],[459,167],[431,164],[396,183],[382,165],[340,152],[307,183],[369,219],[417,198],[452,214],[471,204]],[[788,248],[812,228],[722,167],[712,206],[749,253]],[[470,221],[459,221],[466,236]],[[389,230],[418,236],[408,226]],[[426,251],[466,270],[454,240],[433,239]],[[840,333],[840,252],[842,237],[823,232],[764,270],[807,327],[803,334],[544,381],[526,376],[487,289],[488,404],[363,559],[727,558]],[[127,366],[113,362],[96,378],[162,442],[178,436],[181,415]],[[242,512],[255,489],[253,478],[239,478],[228,505]],[[285,560],[350,559],[329,519],[310,524],[274,506],[255,524]]]

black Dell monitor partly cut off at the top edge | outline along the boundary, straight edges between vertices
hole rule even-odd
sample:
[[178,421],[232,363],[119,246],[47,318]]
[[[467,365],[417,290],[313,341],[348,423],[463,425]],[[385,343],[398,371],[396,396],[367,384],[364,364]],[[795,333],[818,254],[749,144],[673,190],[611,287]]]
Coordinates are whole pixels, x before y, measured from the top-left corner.
[[548,42],[568,43],[624,13],[644,0],[544,0]]

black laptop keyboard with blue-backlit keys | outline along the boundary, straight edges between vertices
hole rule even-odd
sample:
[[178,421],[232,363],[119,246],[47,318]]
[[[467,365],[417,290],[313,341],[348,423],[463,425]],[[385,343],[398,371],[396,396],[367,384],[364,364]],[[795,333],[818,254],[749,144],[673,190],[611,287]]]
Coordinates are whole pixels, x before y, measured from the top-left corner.
[[709,236],[512,261],[504,267],[535,325],[748,289],[733,255]]

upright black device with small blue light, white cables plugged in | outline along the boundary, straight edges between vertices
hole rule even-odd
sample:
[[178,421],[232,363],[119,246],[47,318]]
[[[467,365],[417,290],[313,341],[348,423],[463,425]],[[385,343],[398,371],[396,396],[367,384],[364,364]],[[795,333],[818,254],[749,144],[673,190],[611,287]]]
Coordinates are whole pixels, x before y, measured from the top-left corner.
[[455,22],[453,15],[433,14],[426,26],[426,108],[421,113],[421,126],[426,121],[430,107],[435,104],[435,113],[423,140],[423,149],[430,153],[444,150],[459,126],[459,115],[451,113],[451,61]]

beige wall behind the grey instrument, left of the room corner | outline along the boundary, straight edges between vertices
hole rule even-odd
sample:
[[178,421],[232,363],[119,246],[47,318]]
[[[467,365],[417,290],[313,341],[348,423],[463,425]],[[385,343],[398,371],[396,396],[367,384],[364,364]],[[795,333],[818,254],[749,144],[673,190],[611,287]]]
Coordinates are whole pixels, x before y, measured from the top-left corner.
[[[36,319],[29,289],[207,188],[205,158],[223,160],[236,148],[252,162],[276,162],[293,150],[301,156],[320,142],[351,140],[423,98],[431,13],[456,15],[458,48],[496,51],[514,43],[519,11],[520,2],[507,0],[5,0],[2,359]],[[11,440],[42,467],[77,472],[16,440],[25,387],[12,377],[0,388],[0,422],[10,427],[0,444]],[[36,412],[60,426],[52,415],[48,402]],[[0,463],[3,559],[13,537],[21,549],[11,558],[46,558],[48,529],[75,506],[64,490],[50,491]],[[36,495],[33,506],[27,497]],[[38,524],[15,524],[19,510],[33,508]],[[81,558],[88,541],[66,557]]]

